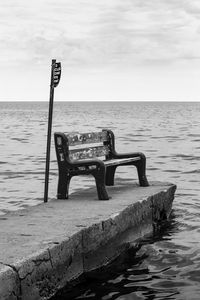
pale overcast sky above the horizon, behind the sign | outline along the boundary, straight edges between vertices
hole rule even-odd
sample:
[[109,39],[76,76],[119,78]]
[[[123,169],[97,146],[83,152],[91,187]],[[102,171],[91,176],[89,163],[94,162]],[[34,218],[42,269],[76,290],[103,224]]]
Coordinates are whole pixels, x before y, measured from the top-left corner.
[[0,101],[200,101],[200,1],[0,0]]

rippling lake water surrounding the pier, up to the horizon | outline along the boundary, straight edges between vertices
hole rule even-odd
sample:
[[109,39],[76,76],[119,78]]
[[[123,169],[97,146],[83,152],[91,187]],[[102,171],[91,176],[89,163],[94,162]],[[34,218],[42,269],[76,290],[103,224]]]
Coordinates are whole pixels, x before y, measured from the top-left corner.
[[[0,103],[1,214],[43,201],[47,116],[48,103]],[[163,232],[144,240],[134,261],[100,280],[100,288],[96,282],[74,299],[199,299],[200,103],[55,103],[53,132],[101,128],[114,131],[119,152],[146,154],[149,181],[170,181],[178,189]],[[116,175],[137,180],[132,168]],[[92,178],[74,178],[70,191],[93,185]],[[49,199],[56,189],[52,139]]]

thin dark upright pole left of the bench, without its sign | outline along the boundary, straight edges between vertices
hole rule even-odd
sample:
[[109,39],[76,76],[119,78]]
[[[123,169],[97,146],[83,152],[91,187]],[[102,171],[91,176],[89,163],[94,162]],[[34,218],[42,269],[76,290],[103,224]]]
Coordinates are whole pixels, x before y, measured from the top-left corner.
[[51,65],[51,84],[50,84],[50,99],[49,99],[49,118],[48,118],[48,131],[47,131],[47,149],[46,149],[46,170],[45,170],[45,189],[44,189],[44,202],[48,202],[48,188],[49,188],[49,165],[50,165],[50,151],[51,151],[51,129],[52,129],[52,116],[53,116],[53,97],[54,97],[54,67],[56,60],[52,59]]

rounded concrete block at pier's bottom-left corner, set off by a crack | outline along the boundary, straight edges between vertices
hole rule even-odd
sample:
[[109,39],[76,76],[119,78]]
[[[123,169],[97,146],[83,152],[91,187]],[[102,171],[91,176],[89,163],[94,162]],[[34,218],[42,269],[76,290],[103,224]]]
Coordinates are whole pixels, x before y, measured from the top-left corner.
[[0,299],[18,300],[20,281],[17,273],[8,266],[0,264]]

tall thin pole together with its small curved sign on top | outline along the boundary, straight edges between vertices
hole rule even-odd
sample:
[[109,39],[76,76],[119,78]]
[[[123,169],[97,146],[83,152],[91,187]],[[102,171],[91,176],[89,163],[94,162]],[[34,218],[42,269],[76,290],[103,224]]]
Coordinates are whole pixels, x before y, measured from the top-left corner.
[[48,201],[49,188],[49,165],[50,165],[50,151],[51,151],[51,129],[53,117],[53,98],[54,88],[58,86],[61,76],[61,63],[52,59],[51,64],[51,84],[50,84],[50,99],[49,99],[49,117],[47,130],[47,150],[46,150],[46,169],[45,169],[45,188],[44,188],[44,202]]

